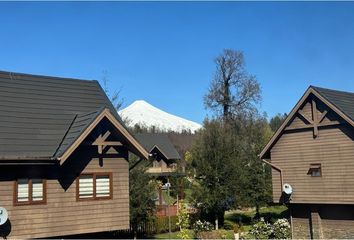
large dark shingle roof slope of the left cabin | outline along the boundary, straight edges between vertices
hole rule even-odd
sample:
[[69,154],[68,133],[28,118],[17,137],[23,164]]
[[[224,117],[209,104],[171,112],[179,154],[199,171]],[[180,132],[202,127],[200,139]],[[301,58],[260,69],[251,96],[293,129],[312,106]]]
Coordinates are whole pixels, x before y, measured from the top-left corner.
[[0,71],[0,159],[58,156],[109,108],[99,83]]

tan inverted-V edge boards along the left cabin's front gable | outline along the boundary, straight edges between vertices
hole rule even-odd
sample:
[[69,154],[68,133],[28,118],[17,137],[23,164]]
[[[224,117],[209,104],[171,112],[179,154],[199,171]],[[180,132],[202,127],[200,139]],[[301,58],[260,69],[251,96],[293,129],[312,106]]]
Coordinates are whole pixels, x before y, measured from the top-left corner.
[[91,133],[97,124],[106,117],[122,135],[130,142],[139,154],[145,159],[149,158],[149,153],[140,145],[140,143],[125,129],[125,127],[112,115],[108,108],[105,108],[96,119],[86,128],[86,130],[75,140],[73,144],[62,154],[60,158],[61,164],[70,156],[70,154],[82,143],[82,141]]

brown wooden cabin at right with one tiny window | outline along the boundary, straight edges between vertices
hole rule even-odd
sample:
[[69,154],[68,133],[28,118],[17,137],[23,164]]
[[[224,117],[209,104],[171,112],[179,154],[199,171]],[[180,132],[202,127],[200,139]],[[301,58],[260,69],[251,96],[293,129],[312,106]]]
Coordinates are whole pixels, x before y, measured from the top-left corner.
[[260,157],[293,238],[354,238],[354,93],[310,86]]

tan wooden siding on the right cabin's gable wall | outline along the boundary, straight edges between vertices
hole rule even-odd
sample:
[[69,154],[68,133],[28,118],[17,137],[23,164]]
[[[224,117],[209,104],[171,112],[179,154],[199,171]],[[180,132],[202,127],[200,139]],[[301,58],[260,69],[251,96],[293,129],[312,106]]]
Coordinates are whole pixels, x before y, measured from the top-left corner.
[[[271,162],[282,169],[283,183],[292,185],[292,203],[354,203],[354,129],[317,102],[318,115],[328,111],[322,122],[341,122],[341,125],[320,127],[317,137],[313,135],[313,127],[285,131],[271,149]],[[312,118],[309,102],[301,111]],[[306,121],[300,118],[294,118],[289,128],[305,126]],[[321,177],[307,174],[310,164],[321,164]],[[273,200],[279,202],[279,172],[273,169],[272,178]]]

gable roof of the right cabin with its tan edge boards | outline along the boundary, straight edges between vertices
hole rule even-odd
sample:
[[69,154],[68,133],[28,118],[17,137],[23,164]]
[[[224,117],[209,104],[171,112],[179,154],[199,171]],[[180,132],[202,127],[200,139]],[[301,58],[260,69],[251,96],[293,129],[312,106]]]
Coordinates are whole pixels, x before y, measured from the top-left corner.
[[296,112],[302,106],[304,101],[310,96],[310,94],[316,96],[335,113],[337,113],[340,117],[342,117],[345,121],[354,127],[354,93],[310,86],[302,95],[295,107],[291,110],[283,124],[278,128],[273,137],[263,148],[262,152],[259,154],[261,159],[269,158],[271,148],[274,146],[276,141],[283,133],[287,124],[293,119]]

